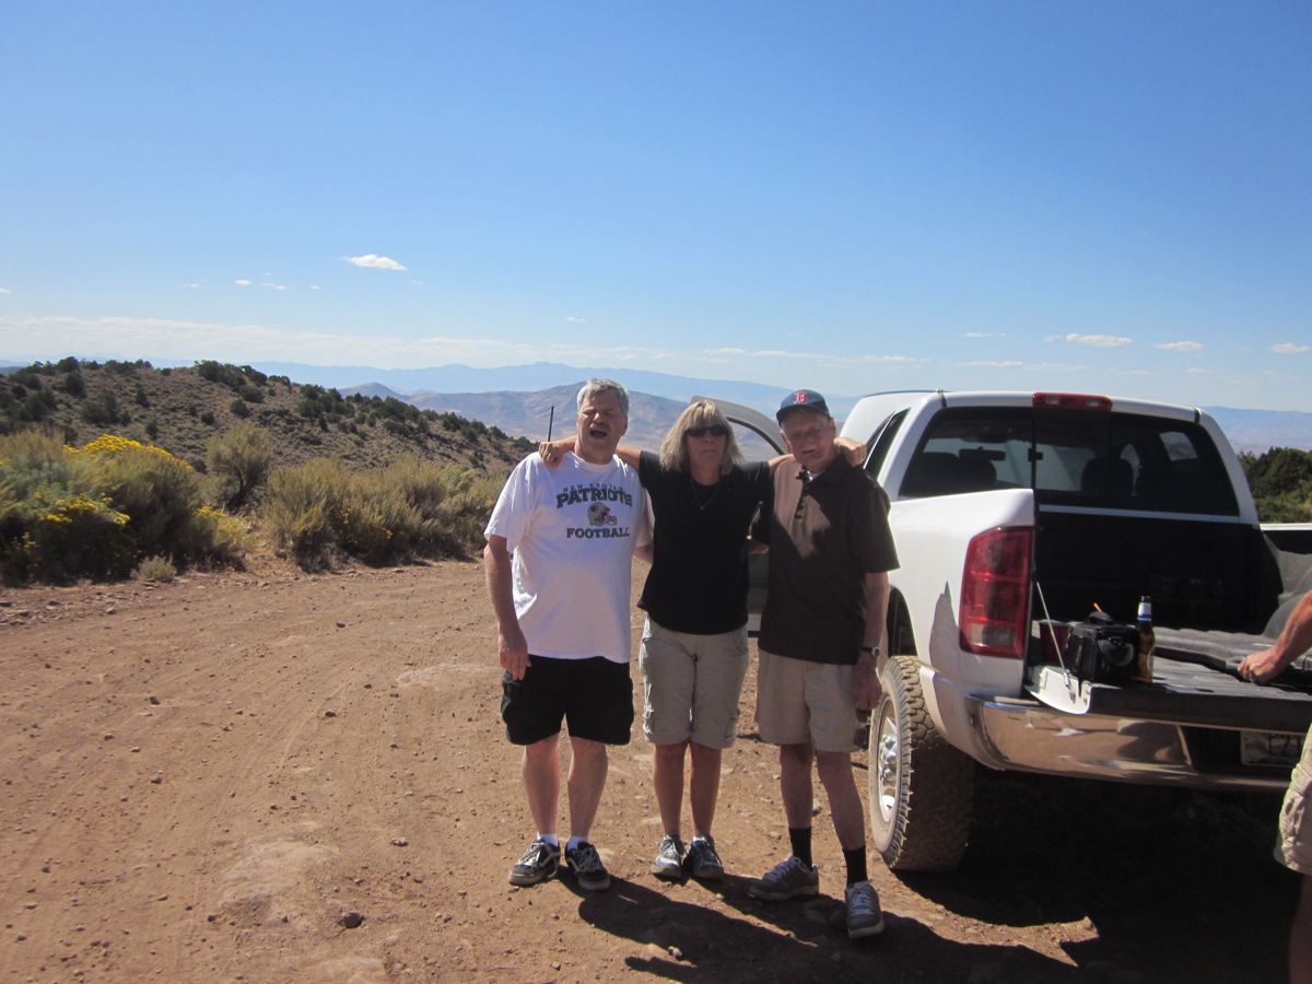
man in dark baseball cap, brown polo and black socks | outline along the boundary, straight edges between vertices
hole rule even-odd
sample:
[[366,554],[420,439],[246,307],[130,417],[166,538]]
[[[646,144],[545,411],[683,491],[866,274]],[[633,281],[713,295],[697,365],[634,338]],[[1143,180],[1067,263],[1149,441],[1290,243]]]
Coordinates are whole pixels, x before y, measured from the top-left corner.
[[779,747],[779,790],[791,855],[749,886],[783,901],[820,891],[811,859],[815,764],[846,863],[848,935],[884,929],[866,870],[866,817],[851,770],[858,710],[879,701],[875,663],[897,551],[888,497],[834,449],[824,396],[796,390],[775,415],[795,466],[774,472],[774,510],[753,539],[770,547],[770,592],[761,617],[756,718]]

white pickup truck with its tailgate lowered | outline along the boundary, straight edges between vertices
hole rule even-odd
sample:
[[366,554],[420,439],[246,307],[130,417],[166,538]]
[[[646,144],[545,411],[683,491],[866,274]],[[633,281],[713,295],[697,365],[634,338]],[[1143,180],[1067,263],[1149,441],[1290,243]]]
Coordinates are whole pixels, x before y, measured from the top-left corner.
[[[774,422],[719,404],[774,446]],[[841,432],[866,443],[901,568],[870,729],[874,841],[891,869],[966,850],[979,765],[1221,792],[1283,791],[1312,673],[1233,668],[1312,589],[1312,529],[1263,529],[1204,412],[1080,394],[890,392]],[[753,573],[756,610],[764,579]],[[1151,596],[1151,684],[1081,680],[1039,638]],[[1312,669],[1312,668],[1308,668]]]

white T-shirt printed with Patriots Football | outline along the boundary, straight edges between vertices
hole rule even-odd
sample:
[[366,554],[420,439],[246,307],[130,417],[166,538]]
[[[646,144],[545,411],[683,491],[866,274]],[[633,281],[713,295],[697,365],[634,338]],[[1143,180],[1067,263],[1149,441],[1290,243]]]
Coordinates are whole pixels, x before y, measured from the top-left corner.
[[484,530],[512,554],[514,611],[534,656],[630,657],[634,548],[651,541],[638,472],[613,458],[530,454],[510,474]]

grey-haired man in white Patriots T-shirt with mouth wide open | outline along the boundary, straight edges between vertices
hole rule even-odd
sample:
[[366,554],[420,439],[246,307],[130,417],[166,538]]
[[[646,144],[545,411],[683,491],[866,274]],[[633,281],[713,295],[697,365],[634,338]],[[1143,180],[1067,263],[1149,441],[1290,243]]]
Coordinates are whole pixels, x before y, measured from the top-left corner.
[[607,745],[628,744],[634,723],[630,573],[651,541],[638,472],[615,457],[628,429],[628,392],[609,379],[579,391],[577,442],[548,468],[520,462],[484,531],[488,594],[497,618],[501,718],[523,748],[523,787],[538,833],[510,869],[513,884],[556,874],[560,841],[560,728],[569,728],[565,861],[581,888],[610,887],[589,841],[606,785]]

